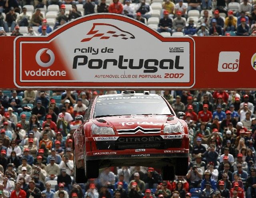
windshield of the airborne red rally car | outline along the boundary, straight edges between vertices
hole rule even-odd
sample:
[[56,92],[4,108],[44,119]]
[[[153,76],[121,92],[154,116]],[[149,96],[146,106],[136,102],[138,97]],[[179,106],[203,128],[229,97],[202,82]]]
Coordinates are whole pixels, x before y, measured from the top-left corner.
[[97,98],[94,117],[114,115],[174,115],[161,96],[109,96]]

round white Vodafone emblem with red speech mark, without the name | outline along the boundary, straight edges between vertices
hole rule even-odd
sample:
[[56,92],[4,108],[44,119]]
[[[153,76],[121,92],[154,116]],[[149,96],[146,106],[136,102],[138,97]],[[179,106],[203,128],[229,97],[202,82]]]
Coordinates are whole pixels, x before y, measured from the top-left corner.
[[48,48],[42,48],[36,53],[36,62],[41,67],[50,67],[54,60],[54,53]]

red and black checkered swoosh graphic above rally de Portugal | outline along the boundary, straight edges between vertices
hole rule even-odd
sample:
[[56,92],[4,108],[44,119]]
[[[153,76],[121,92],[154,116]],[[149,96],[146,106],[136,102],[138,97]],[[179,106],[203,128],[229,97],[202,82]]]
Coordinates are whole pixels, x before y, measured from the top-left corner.
[[81,40],[81,42],[90,41],[94,37],[99,37],[100,39],[121,38],[124,40],[127,40],[129,38],[135,38],[135,36],[130,32],[121,30],[120,28],[114,25],[103,23],[93,24],[92,29],[87,33],[87,35],[90,35],[91,37],[84,38],[83,40]]

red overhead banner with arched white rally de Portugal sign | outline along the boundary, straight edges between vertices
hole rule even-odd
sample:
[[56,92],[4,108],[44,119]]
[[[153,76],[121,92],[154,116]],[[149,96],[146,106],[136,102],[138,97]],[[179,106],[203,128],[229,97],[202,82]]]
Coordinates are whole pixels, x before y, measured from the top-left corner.
[[0,89],[255,89],[255,37],[163,37],[92,14],[47,36],[0,37]]

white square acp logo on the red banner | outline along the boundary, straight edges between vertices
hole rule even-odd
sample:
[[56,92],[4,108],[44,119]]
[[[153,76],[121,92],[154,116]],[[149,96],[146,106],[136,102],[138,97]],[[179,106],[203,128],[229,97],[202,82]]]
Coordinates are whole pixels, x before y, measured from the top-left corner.
[[239,51],[221,51],[219,54],[218,71],[236,72],[239,67]]

